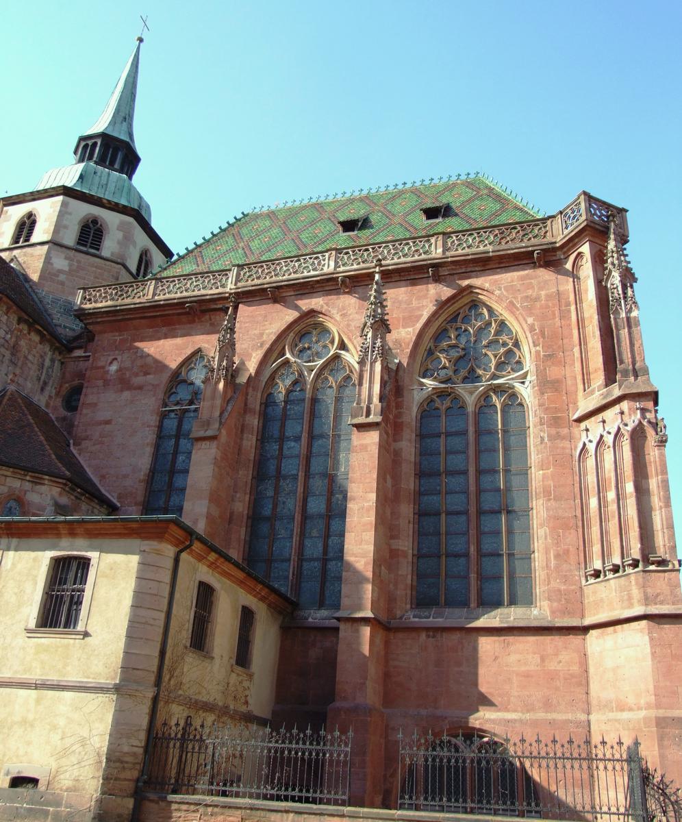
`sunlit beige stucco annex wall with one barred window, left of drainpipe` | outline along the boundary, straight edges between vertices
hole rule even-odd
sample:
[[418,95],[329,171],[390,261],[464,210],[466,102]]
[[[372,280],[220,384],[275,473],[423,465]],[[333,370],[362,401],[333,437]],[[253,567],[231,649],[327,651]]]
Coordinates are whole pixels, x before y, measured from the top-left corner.
[[[0,538],[0,787],[96,792],[108,743],[138,541]],[[82,635],[30,634],[52,556],[91,557]],[[86,592],[84,612],[87,607]]]

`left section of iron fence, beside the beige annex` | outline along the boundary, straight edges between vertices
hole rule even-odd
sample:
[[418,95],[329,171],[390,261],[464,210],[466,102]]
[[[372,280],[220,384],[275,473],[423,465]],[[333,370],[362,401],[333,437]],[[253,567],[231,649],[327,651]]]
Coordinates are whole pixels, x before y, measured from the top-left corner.
[[162,793],[348,805],[353,733],[164,723],[146,787]]

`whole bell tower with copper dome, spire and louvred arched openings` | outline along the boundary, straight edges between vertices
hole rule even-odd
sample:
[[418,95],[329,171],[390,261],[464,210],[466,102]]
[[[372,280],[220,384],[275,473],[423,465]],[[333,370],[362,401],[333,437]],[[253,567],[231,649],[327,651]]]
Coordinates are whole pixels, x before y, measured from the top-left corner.
[[44,173],[32,191],[0,200],[0,256],[56,298],[143,279],[172,254],[132,182],[141,160],[133,118],[142,42],[136,39],[99,118],[76,140],[74,161]]

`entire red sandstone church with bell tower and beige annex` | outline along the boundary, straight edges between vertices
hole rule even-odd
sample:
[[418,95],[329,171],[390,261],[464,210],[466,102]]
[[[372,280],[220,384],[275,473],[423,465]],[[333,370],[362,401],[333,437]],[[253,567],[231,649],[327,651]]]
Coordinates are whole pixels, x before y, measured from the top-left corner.
[[0,201],[0,801],[170,819],[141,795],[187,717],[352,729],[368,809],[431,728],[636,737],[682,782],[626,209],[458,174],[174,255],[132,182],[140,51],[73,162]]

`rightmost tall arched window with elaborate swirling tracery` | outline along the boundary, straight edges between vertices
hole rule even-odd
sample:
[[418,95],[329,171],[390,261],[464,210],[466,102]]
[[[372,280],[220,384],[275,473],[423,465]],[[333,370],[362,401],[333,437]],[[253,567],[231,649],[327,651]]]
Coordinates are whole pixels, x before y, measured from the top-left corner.
[[528,367],[516,331],[469,302],[433,335],[417,416],[417,607],[532,604]]

